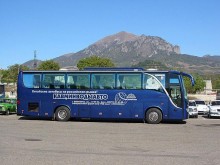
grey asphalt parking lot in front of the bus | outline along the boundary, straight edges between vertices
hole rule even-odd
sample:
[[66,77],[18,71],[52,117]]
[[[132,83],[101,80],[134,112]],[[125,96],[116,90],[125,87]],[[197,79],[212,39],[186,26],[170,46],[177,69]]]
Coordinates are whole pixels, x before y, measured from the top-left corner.
[[1,165],[218,165],[219,155],[220,119],[150,125],[0,115]]

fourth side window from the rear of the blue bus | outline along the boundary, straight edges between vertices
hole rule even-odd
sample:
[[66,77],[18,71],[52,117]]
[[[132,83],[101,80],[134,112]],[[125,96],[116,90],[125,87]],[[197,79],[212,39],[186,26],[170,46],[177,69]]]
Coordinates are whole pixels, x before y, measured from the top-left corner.
[[115,74],[92,74],[93,89],[114,89]]

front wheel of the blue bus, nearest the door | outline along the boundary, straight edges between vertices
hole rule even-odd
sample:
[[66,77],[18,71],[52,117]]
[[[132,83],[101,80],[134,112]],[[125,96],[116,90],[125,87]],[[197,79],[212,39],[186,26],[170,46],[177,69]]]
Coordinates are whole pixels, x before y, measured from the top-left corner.
[[158,124],[162,121],[162,113],[157,108],[151,108],[146,112],[145,120],[149,124]]

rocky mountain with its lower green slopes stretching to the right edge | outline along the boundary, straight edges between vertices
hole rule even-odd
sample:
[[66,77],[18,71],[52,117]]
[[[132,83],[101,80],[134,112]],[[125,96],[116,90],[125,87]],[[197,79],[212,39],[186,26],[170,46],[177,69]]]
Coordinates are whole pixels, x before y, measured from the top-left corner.
[[76,66],[81,58],[92,55],[110,58],[116,66],[137,66],[145,60],[152,60],[161,62],[170,69],[220,74],[220,56],[181,54],[179,46],[160,37],[138,36],[124,31],[107,36],[79,52],[65,54],[53,60],[61,67],[69,67]]

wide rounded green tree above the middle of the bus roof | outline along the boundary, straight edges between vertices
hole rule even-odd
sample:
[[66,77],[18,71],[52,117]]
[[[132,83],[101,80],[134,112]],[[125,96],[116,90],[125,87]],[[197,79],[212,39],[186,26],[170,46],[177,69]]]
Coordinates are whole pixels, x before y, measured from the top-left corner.
[[80,59],[77,63],[79,70],[83,70],[85,67],[114,67],[114,63],[108,59],[98,56],[90,56]]

